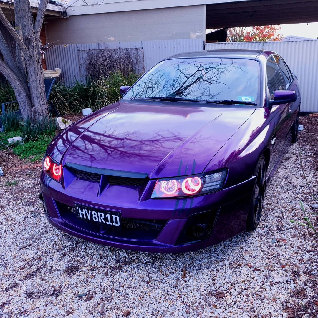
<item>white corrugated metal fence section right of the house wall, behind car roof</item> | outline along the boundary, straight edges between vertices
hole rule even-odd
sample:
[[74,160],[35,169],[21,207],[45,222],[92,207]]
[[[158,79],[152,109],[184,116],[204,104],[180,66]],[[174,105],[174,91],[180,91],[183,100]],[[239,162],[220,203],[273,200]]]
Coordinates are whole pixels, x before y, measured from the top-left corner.
[[291,71],[296,74],[301,87],[301,111],[318,112],[318,40],[207,43],[206,50],[257,49],[280,54]]

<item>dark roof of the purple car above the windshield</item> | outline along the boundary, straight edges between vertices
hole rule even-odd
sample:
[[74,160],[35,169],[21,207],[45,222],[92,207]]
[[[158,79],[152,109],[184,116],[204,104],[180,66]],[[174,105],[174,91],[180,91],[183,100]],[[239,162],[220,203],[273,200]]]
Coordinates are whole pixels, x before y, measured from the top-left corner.
[[194,51],[178,53],[170,56],[167,59],[191,59],[191,58],[246,58],[246,59],[257,59],[259,55],[268,56],[270,54],[276,54],[272,51],[264,50],[246,50],[246,49],[224,49],[224,50],[206,50],[206,51]]

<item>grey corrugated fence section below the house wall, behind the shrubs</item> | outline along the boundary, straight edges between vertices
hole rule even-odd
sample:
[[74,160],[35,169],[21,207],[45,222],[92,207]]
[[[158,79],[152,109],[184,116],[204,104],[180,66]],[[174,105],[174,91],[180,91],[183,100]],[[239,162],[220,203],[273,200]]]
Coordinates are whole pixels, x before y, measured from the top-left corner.
[[71,86],[75,79],[83,80],[85,78],[83,66],[85,51],[105,48],[105,45],[114,49],[141,48],[146,71],[170,55],[204,49],[203,39],[54,45],[46,51],[47,68],[49,70],[54,70],[56,67],[60,68],[62,82]]

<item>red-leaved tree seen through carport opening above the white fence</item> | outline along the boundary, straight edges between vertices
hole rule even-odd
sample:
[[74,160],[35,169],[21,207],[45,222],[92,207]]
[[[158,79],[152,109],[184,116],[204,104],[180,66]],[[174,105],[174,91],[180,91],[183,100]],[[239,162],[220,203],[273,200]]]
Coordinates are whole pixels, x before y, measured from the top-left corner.
[[227,30],[228,42],[252,42],[252,41],[279,41],[278,25],[261,25],[252,27],[229,28]]

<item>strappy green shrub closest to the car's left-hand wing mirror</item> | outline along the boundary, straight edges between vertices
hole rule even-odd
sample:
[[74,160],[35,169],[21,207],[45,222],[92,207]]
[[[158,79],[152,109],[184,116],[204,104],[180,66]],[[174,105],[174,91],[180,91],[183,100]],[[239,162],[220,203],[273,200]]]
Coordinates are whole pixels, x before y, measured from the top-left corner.
[[140,75],[136,73],[130,73],[124,76],[120,71],[109,73],[106,78],[101,78],[96,81],[96,87],[98,89],[99,104],[104,107],[109,104],[113,104],[120,100],[120,86],[131,86],[139,78]]

